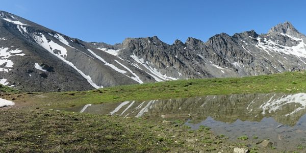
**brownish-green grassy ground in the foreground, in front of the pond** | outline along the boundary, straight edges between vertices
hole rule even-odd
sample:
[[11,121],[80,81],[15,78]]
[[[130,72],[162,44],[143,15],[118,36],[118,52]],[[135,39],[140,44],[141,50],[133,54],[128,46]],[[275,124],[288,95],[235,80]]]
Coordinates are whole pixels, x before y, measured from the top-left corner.
[[[16,105],[0,110],[1,152],[279,152],[269,141],[225,135],[184,120],[123,118]],[[262,142],[262,143],[261,143]]]

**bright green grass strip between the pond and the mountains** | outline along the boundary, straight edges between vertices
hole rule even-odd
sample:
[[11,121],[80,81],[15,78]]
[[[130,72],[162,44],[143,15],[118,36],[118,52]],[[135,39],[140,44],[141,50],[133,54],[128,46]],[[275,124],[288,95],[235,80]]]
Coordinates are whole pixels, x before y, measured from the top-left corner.
[[[246,78],[189,79],[117,86],[83,92],[39,93],[25,96],[28,101],[52,107],[111,103],[124,100],[150,100],[211,94],[306,92],[306,73],[285,72]],[[19,99],[18,97],[13,97]]]

